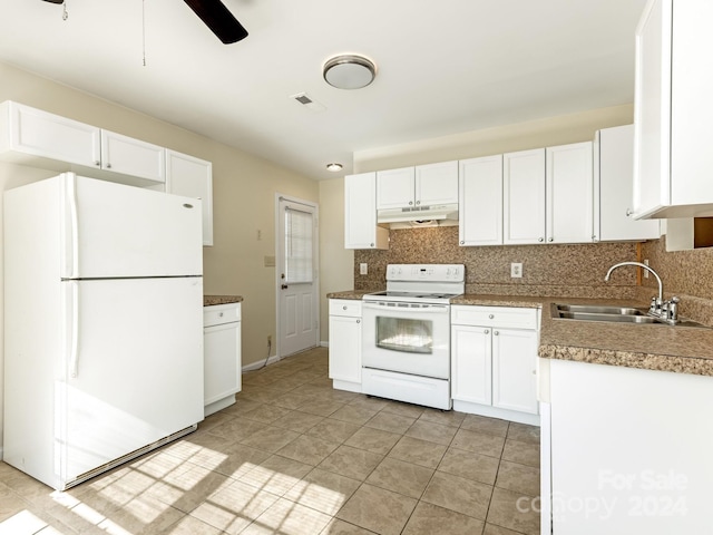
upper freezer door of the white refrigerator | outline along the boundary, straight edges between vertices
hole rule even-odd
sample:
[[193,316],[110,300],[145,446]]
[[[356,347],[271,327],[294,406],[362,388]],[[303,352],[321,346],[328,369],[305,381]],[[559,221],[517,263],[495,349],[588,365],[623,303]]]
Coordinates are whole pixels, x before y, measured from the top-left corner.
[[202,206],[196,198],[65,173],[62,279],[199,275]]

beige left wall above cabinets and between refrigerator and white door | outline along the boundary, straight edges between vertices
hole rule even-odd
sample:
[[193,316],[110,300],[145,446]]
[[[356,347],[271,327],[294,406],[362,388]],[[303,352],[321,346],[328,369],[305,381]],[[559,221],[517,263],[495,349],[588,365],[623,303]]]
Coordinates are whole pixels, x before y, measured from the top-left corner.
[[[244,296],[243,363],[265,359],[267,335],[276,339],[275,271],[264,266],[264,256],[275,254],[275,193],[318,202],[318,182],[174,125],[0,64],[0,101],[3,100],[16,100],[213,162],[215,245],[204,247],[204,290],[208,294]],[[55,174],[0,162],[0,191]],[[260,241],[258,230],[262,231]],[[1,325],[0,321],[0,329]],[[0,372],[0,386],[1,379]],[[0,403],[1,400],[0,393]],[[0,428],[1,415],[0,409]]]

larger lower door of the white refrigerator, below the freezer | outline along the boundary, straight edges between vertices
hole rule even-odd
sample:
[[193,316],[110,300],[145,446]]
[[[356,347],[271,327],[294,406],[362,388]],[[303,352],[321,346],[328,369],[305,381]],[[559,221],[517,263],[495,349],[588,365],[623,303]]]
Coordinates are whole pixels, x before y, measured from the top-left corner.
[[62,282],[60,486],[203,419],[202,281]]

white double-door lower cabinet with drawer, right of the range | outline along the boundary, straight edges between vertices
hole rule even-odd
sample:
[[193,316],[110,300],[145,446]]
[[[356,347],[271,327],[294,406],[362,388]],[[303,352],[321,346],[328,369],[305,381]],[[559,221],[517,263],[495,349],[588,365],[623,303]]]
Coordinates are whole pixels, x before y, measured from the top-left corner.
[[538,310],[451,307],[453,409],[539,425]]

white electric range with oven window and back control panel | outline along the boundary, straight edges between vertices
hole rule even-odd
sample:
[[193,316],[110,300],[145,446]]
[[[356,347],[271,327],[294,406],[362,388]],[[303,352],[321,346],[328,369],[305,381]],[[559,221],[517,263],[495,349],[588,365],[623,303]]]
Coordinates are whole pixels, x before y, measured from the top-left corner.
[[462,264],[389,264],[387,290],[362,304],[362,392],[448,410],[450,300]]

